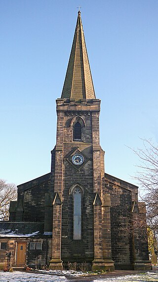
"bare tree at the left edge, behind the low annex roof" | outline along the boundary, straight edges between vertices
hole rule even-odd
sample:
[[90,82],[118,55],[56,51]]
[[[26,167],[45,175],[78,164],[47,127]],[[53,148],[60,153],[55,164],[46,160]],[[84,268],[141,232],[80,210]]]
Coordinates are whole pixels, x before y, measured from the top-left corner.
[[10,201],[16,201],[17,187],[13,183],[6,183],[0,179],[0,220],[9,219],[9,204]]

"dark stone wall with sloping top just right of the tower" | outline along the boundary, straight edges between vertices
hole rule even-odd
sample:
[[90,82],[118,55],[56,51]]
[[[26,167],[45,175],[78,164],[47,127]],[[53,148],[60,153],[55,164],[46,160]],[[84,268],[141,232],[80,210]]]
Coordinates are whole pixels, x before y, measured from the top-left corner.
[[116,269],[131,269],[131,191],[108,181],[105,187],[111,195],[112,259]]

